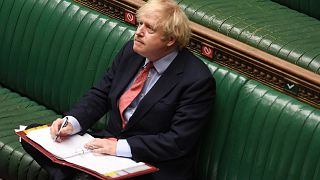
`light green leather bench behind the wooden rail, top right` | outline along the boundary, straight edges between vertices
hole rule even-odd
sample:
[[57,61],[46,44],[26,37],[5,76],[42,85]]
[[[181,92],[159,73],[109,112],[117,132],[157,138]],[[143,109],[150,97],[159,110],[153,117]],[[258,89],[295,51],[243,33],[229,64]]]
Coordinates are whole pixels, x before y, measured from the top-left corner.
[[177,2],[192,21],[320,74],[320,1]]

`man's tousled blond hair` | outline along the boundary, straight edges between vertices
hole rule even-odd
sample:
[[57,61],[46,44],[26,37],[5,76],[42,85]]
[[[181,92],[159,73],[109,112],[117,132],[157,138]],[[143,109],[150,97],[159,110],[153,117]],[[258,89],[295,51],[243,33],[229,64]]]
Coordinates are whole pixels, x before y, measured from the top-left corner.
[[178,47],[188,45],[191,36],[188,17],[174,0],[149,0],[137,11],[137,19],[151,13],[158,13],[158,22],[155,28],[161,28],[164,38],[173,37]]

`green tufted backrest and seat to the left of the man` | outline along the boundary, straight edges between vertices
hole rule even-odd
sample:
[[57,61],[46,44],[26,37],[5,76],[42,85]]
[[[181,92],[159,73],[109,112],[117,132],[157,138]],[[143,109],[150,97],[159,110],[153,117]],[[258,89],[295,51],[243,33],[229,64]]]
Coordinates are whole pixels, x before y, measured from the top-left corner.
[[46,179],[13,129],[60,117],[133,33],[69,0],[0,0],[0,178]]

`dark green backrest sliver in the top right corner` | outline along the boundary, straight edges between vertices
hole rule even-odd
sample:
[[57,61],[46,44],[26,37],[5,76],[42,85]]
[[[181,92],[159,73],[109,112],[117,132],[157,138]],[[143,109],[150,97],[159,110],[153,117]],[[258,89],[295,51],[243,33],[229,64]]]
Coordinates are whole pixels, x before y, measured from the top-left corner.
[[320,20],[319,0],[272,0],[301,13],[308,14]]

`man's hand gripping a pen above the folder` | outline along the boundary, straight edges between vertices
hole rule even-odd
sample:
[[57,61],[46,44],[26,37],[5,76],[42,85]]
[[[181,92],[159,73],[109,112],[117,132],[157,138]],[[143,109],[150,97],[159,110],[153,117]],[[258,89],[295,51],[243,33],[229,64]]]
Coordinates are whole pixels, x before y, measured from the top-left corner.
[[[58,118],[51,124],[50,134],[52,139],[55,139],[58,135],[58,131],[63,123],[64,119]],[[60,131],[60,134],[57,138],[57,142],[62,142],[65,138],[71,135],[73,132],[73,126],[71,123],[68,123],[67,126],[63,127]]]

